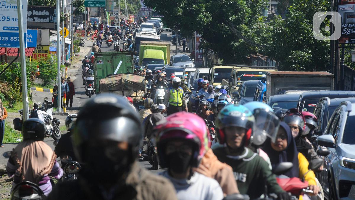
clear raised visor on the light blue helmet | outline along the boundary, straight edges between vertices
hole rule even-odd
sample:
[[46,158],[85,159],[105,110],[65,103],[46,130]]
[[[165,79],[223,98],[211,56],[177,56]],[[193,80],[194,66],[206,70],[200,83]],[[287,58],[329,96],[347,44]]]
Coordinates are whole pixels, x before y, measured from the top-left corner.
[[[279,131],[280,121],[278,117],[270,111],[264,109],[255,109],[255,129],[253,131],[254,138],[261,138],[260,136],[267,136],[271,138],[273,143],[276,142],[277,133]],[[266,140],[266,137],[263,137]],[[259,141],[258,143],[264,143]]]

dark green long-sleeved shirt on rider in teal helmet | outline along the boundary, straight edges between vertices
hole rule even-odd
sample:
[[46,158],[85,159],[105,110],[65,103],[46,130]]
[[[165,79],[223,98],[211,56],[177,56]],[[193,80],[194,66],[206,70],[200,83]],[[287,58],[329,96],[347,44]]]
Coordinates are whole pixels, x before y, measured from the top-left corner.
[[233,168],[240,194],[247,194],[250,199],[256,199],[264,193],[265,185],[267,185],[268,193],[284,192],[267,162],[258,154],[245,148],[240,156],[228,156],[226,150],[226,147],[219,147],[213,149],[213,153],[220,162]]

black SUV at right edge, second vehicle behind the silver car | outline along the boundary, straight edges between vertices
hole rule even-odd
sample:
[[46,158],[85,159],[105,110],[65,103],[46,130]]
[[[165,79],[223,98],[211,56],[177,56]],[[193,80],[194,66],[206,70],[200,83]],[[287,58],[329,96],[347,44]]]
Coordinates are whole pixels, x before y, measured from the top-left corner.
[[348,98],[355,97],[355,91],[309,91],[300,95],[297,103],[297,109],[301,111],[313,112],[318,100],[322,97],[334,98]]

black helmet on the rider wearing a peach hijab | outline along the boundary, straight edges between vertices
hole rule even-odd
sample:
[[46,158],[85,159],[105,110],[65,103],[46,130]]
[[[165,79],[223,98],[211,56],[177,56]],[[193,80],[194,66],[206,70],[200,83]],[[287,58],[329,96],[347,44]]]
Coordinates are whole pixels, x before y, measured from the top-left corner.
[[22,124],[23,140],[43,140],[45,136],[44,122],[38,118],[30,118]]

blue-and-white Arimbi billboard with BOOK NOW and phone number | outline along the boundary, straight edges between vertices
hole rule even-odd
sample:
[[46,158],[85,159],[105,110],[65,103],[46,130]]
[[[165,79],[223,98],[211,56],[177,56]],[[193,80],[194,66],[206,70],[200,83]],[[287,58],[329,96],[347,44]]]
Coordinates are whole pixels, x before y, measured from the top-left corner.
[[[27,32],[27,0],[21,0],[22,4],[22,22],[24,32],[24,45],[26,47]],[[0,0],[0,47],[20,48],[18,42],[18,17],[16,0]]]

